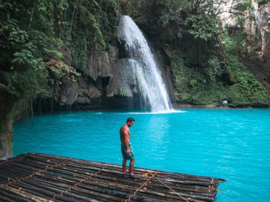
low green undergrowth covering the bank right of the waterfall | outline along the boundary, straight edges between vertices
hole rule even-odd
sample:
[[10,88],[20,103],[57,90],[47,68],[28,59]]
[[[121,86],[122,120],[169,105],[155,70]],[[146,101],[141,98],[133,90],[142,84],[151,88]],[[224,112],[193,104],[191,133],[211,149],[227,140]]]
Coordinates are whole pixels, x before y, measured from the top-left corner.
[[[244,69],[237,61],[230,61],[230,67],[221,70],[220,60],[212,56],[207,62],[202,74],[200,69],[188,67],[180,55],[171,57],[173,82],[176,89],[176,100],[200,104],[217,104],[227,99],[232,103],[268,103],[266,89],[254,79],[254,76]],[[223,72],[232,74],[230,79],[234,84],[222,82]]]

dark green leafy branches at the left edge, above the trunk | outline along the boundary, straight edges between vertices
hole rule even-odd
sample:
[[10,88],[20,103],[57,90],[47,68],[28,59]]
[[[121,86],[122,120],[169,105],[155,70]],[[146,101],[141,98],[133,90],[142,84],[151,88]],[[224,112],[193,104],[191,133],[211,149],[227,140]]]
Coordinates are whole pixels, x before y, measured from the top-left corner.
[[3,88],[0,93],[9,96],[11,100],[12,97],[20,97],[29,101],[31,96],[36,96],[34,89],[38,86],[33,69],[37,64],[33,54],[37,47],[31,41],[28,31],[23,30],[21,21],[14,19],[9,9],[18,12],[21,4],[6,1],[4,12],[1,13],[3,21],[0,24],[0,83]]

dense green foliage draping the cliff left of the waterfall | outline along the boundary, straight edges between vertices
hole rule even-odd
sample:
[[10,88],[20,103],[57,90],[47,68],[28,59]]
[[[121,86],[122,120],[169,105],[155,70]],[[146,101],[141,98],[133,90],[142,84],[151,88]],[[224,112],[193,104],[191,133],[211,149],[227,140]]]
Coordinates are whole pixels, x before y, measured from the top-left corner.
[[[37,97],[54,97],[63,79],[77,82],[91,52],[107,50],[119,18],[114,0],[3,0],[0,5],[3,113],[23,104],[16,107],[19,113]],[[71,50],[71,66],[63,47]]]

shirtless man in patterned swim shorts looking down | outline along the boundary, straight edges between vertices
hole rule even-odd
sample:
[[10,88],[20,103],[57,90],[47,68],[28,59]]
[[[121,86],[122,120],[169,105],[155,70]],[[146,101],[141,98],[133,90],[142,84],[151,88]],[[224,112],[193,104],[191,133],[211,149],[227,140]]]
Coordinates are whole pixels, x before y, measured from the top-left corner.
[[139,176],[134,175],[133,167],[135,162],[135,157],[133,153],[133,148],[131,146],[131,142],[129,142],[130,131],[129,127],[134,124],[134,118],[128,118],[126,120],[126,124],[120,128],[120,139],[121,139],[121,152],[123,156],[123,176],[126,176],[126,160],[130,160],[129,162],[129,177],[133,179],[139,179]]

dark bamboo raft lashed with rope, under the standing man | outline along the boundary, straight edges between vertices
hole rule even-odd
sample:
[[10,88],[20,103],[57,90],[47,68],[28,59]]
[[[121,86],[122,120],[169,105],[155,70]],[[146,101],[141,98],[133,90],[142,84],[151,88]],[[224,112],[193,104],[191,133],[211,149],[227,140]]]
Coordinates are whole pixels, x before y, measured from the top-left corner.
[[0,161],[0,201],[215,201],[224,179],[29,153]]

